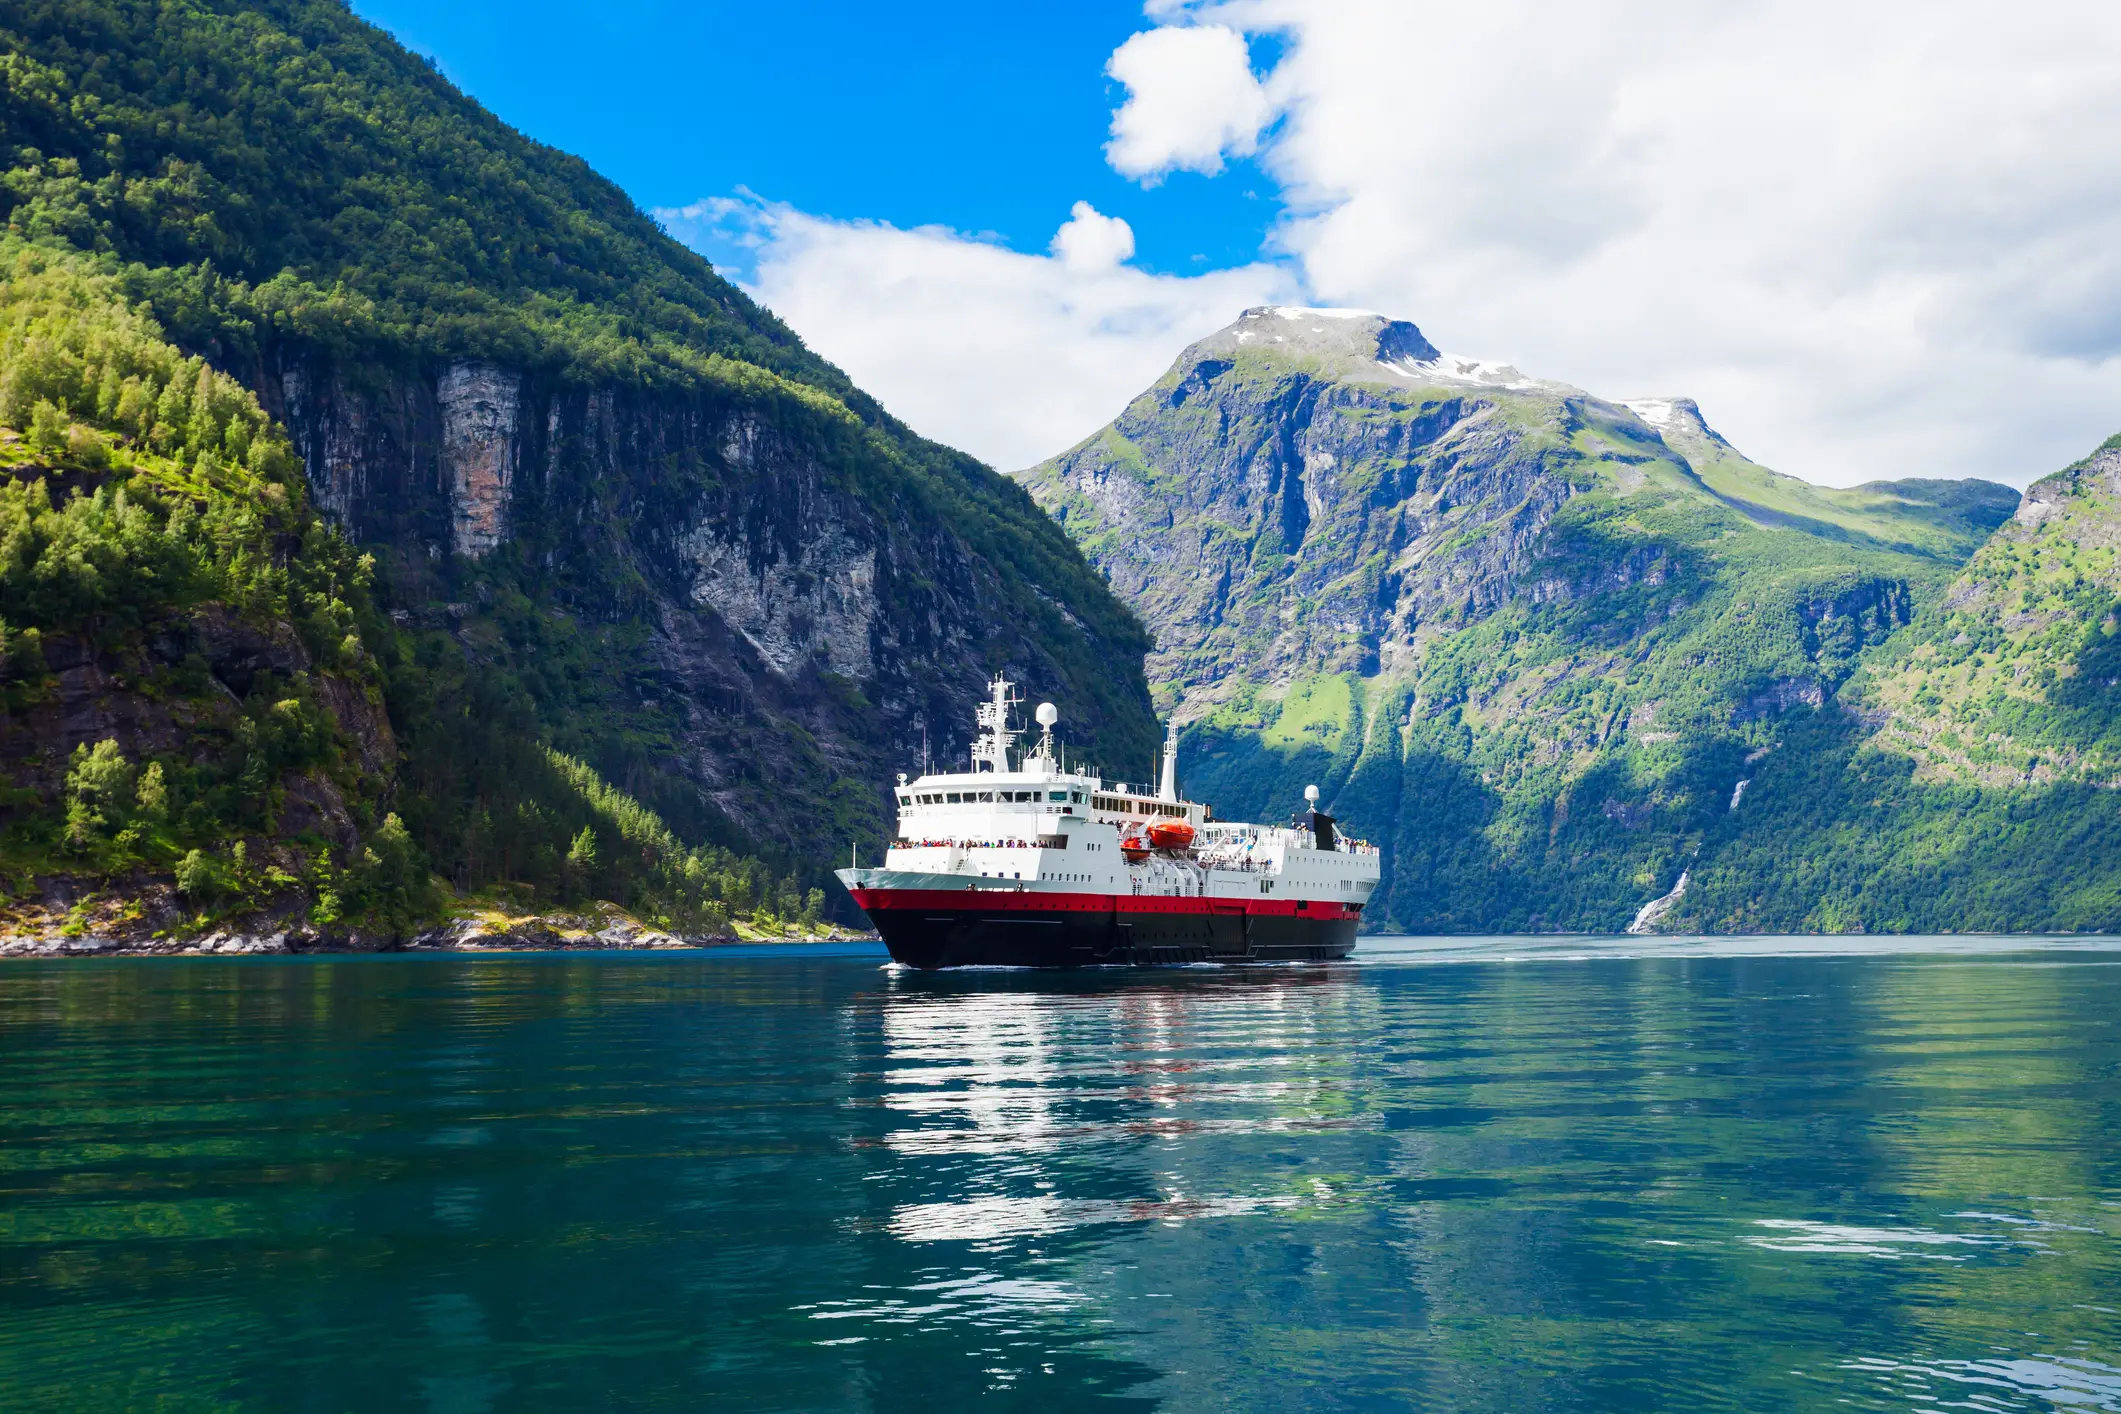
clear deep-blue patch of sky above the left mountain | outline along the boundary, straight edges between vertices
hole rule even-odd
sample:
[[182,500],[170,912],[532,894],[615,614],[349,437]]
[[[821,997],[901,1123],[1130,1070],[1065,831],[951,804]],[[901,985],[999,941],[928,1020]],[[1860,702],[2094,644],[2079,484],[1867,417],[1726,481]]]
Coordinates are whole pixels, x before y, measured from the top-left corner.
[[[753,191],[804,212],[948,225],[1044,250],[1075,201],[1122,216],[1135,263],[1251,261],[1277,214],[1249,161],[1141,187],[1103,157],[1103,74],[1141,4],[668,4],[356,0],[528,136],[643,208]],[[1273,38],[1254,42],[1270,59]],[[717,252],[730,257],[732,252]]]

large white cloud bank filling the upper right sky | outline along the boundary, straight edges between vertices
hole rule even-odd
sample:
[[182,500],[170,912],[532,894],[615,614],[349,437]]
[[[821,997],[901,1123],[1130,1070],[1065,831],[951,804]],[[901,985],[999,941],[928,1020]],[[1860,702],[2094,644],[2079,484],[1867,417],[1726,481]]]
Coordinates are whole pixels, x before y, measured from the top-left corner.
[[[2121,428],[2110,0],[1154,13],[1186,23],[1114,55],[1114,165],[1213,170],[1283,112],[1260,161],[1315,299],[1699,396],[1824,481],[2026,481]],[[1281,36],[1258,106],[1158,57],[1217,32]]]

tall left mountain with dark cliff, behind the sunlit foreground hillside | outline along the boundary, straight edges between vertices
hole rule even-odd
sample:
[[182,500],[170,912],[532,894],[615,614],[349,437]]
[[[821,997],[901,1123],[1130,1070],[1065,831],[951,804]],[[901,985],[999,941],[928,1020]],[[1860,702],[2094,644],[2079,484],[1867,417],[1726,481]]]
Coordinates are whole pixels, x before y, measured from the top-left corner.
[[[204,369],[250,399],[269,435],[244,447],[284,439],[299,469],[274,481],[288,515],[314,507],[375,566],[373,615],[335,587],[390,725],[339,856],[395,810],[467,895],[558,890],[583,823],[607,863],[634,842],[560,753],[800,899],[851,844],[882,846],[889,772],[923,740],[961,750],[993,670],[1058,702],[1086,757],[1154,750],[1139,623],[1020,488],[914,437],[613,184],[344,4],[21,0],[0,25],[8,267],[59,269],[72,295],[51,299],[185,369],[132,371],[93,331],[68,352],[55,305],[25,305],[0,422],[28,445],[49,405],[51,435],[11,477],[64,513],[102,485],[68,447],[98,441],[127,481],[142,458],[208,458],[240,502],[255,488],[212,473],[242,454],[172,388]],[[271,541],[288,572],[301,534]],[[30,619],[11,632],[57,628]],[[110,740],[144,770],[195,746],[134,729],[146,687],[108,657],[129,647],[98,649],[106,710],[8,738],[25,876],[87,867],[51,844],[49,761]],[[233,856],[233,829],[195,837]],[[242,829],[255,859],[293,825]]]

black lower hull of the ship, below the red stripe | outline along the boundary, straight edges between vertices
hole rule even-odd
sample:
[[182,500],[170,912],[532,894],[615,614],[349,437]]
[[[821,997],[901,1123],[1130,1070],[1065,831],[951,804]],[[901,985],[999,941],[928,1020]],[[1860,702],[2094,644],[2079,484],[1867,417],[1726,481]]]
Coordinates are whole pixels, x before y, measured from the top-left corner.
[[[1020,899],[1020,895],[1018,895]],[[1330,962],[1355,950],[1353,909],[1338,916],[1245,912],[1027,912],[995,905],[872,907],[906,967],[1171,967],[1179,962]]]

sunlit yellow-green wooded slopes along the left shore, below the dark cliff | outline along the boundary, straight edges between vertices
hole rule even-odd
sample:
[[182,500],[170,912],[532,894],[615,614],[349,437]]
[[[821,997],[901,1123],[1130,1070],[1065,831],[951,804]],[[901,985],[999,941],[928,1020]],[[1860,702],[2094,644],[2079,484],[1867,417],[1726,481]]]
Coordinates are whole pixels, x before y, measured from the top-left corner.
[[[405,706],[448,693],[375,611],[373,558],[310,507],[257,399],[110,276],[13,237],[0,271],[0,907],[59,876],[85,886],[83,918],[117,901],[161,931],[267,909],[388,935],[433,916],[443,899],[390,812],[392,717],[418,770],[450,746]],[[70,736],[93,744],[64,750]],[[479,784],[524,854],[513,882],[694,929],[814,912],[534,738],[498,746]]]

